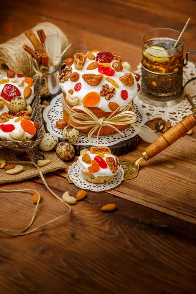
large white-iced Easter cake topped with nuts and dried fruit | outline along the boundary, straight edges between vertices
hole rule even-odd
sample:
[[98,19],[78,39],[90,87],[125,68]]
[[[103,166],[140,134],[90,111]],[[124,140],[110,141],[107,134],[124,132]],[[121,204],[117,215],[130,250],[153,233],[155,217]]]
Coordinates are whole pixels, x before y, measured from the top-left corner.
[[[90,109],[98,119],[107,119],[123,105],[130,105],[129,110],[134,111],[132,104],[139,91],[140,75],[134,74],[127,62],[122,63],[120,55],[92,50],[88,54],[76,53],[74,58],[66,59],[65,65],[59,74],[59,82],[63,91],[63,119],[67,124],[80,126],[70,122],[69,109],[74,106]],[[122,131],[127,124],[114,126]],[[80,133],[87,135],[91,129],[82,128]],[[116,132],[113,127],[104,125],[99,136]],[[93,135],[97,134],[95,131]]]

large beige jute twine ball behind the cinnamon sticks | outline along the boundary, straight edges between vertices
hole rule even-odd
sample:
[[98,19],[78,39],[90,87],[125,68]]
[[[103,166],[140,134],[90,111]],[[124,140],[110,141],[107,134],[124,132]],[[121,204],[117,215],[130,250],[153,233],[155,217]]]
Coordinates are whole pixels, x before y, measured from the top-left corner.
[[[57,34],[62,40],[62,51],[69,45],[69,41],[62,30],[51,23],[40,23],[32,28],[36,37],[37,30],[43,29],[46,36],[51,34]],[[33,45],[22,33],[20,36],[8,40],[7,42],[0,44],[0,73],[6,75],[8,70],[13,70],[15,73],[22,73],[26,76],[33,76],[33,59],[24,49],[23,45],[26,44],[33,48]],[[69,54],[69,50],[62,56],[62,60],[65,60]]]

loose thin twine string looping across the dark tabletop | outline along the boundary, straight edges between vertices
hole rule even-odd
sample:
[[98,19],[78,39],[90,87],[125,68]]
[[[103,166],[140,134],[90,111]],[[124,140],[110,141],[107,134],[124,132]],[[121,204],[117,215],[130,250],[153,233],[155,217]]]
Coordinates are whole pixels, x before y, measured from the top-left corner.
[[40,177],[42,179],[42,181],[44,182],[44,185],[46,186],[46,188],[49,190],[49,192],[55,197],[57,198],[58,200],[60,200],[63,204],[65,204],[67,207],[68,207],[68,212],[66,212],[65,214],[59,216],[59,217],[56,217],[50,221],[47,221],[39,226],[37,226],[36,228],[30,230],[30,231],[27,231],[26,230],[32,225],[32,223],[34,222],[35,220],[35,216],[36,216],[36,212],[37,212],[37,209],[38,209],[38,206],[39,206],[39,203],[40,203],[40,200],[41,200],[41,196],[40,196],[40,193],[37,192],[36,190],[33,190],[33,189],[22,189],[22,190],[3,190],[3,189],[0,189],[0,192],[6,192],[6,193],[14,193],[14,192],[26,192],[26,191],[32,191],[34,193],[36,193],[38,195],[38,201],[37,201],[37,204],[35,206],[35,209],[34,209],[34,212],[33,212],[33,215],[32,215],[32,218],[29,222],[29,224],[27,226],[25,226],[25,228],[22,228],[22,229],[18,229],[18,230],[9,230],[9,229],[4,229],[4,228],[0,228],[0,232],[3,232],[5,234],[8,234],[9,236],[13,236],[13,237],[17,237],[17,236],[23,236],[23,235],[27,235],[27,234],[30,234],[30,233],[33,233],[35,231],[37,231],[39,228],[51,223],[51,222],[54,222],[54,221],[57,221],[63,217],[66,217],[67,215],[69,215],[71,213],[71,206],[69,204],[67,204],[66,202],[63,201],[63,199],[61,199],[59,196],[57,196],[48,186],[45,178],[44,178],[44,175],[41,171],[41,169],[38,167],[38,165],[36,165],[34,162],[31,162],[31,161],[6,161],[7,163],[15,163],[15,164],[32,164],[34,165],[39,173],[40,173]]

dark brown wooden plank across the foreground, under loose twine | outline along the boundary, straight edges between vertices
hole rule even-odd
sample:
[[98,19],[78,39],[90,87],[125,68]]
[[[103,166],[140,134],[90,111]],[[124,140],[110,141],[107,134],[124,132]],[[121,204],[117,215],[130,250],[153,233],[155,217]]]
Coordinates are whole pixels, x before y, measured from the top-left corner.
[[[55,183],[58,187],[53,188],[57,195],[67,188],[73,195],[76,193],[78,188],[58,178],[47,177],[51,186]],[[65,207],[46,192],[43,184],[26,181],[18,188],[33,185],[43,195],[33,226],[64,213]],[[12,186],[15,185],[4,185],[8,189]],[[1,195],[1,226],[16,228],[21,220],[25,223],[30,219],[34,207],[30,197],[21,193]],[[108,201],[117,205],[116,212],[100,211]],[[5,211],[12,218],[6,220]],[[35,234],[0,239],[1,291],[148,294],[167,293],[169,289],[168,293],[183,294],[189,287],[187,293],[194,293],[196,242],[173,230],[194,236],[196,231],[191,234],[191,226],[187,225],[106,193],[89,192],[84,201],[73,206],[70,217]]]

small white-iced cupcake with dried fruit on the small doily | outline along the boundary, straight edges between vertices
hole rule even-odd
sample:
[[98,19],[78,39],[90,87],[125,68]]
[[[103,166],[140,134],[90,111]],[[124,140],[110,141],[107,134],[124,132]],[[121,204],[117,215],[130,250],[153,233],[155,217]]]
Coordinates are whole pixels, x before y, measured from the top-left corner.
[[92,146],[83,149],[78,157],[78,167],[84,179],[90,183],[102,184],[109,181],[120,169],[119,160],[108,147]]

